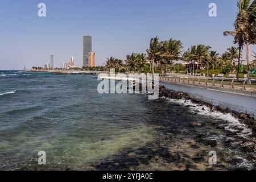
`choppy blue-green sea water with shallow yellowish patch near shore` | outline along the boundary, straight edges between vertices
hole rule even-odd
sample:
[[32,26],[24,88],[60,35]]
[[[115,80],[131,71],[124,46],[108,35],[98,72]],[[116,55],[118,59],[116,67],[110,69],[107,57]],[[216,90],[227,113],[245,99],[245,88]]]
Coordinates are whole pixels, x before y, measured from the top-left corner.
[[[190,146],[200,133],[221,135],[209,122],[225,123],[226,118],[195,114],[191,106],[150,101],[142,94],[99,94],[99,82],[89,75],[0,71],[0,169],[209,167],[212,148]],[[218,140],[215,150],[231,155],[225,139]],[[39,151],[46,152],[46,166],[37,163]],[[175,162],[166,160],[170,155]],[[203,159],[192,160],[197,155]]]

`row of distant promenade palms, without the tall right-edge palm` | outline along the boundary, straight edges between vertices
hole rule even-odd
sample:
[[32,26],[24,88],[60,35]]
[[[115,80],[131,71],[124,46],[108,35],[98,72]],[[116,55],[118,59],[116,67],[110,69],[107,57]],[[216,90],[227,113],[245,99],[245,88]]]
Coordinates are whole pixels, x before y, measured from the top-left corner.
[[159,42],[159,39],[155,37],[151,39],[150,48],[147,49],[148,56],[144,53],[132,53],[126,56],[125,63],[122,60],[110,57],[106,62],[106,68],[108,70],[116,68],[118,71],[125,69],[126,72],[145,72],[148,68],[150,68],[150,71],[155,72],[155,69],[159,68],[162,75],[165,75],[167,68],[172,72],[174,61],[183,60],[188,65],[193,65],[187,72],[197,73],[199,65],[200,67],[201,65],[207,65],[207,71],[209,72],[209,64],[212,69],[228,65],[232,66],[234,61],[238,59],[238,48],[236,47],[228,48],[220,56],[216,51],[211,51],[210,46],[203,44],[191,46],[183,53],[182,45],[180,40],[170,39]]

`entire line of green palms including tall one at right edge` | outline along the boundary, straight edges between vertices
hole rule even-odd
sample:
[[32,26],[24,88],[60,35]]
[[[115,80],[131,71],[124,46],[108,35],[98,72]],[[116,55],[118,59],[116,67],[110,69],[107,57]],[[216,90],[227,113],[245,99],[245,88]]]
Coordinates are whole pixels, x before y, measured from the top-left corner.
[[[199,44],[191,46],[187,51],[183,52],[183,43],[180,40],[170,39],[159,41],[158,37],[150,40],[150,47],[144,53],[132,53],[126,56],[125,63],[122,60],[110,57],[106,63],[106,68],[116,68],[120,71],[122,68],[127,72],[142,72],[150,67],[150,72],[155,73],[158,68],[162,75],[165,75],[167,68],[172,72],[172,64],[174,61],[183,60],[188,63],[187,72],[197,73],[198,69],[207,65],[207,75],[209,75],[209,67],[212,69],[220,67],[234,67],[235,61],[238,59],[238,70],[241,59],[241,51],[246,45],[246,60],[248,67],[248,77],[250,78],[250,45],[256,42],[256,0],[240,0],[237,2],[238,14],[234,23],[234,31],[225,31],[224,35],[234,36],[234,44],[238,47],[230,47],[222,55],[212,50],[210,46]],[[255,52],[254,57],[255,57]],[[256,61],[254,60],[254,63]],[[250,83],[250,79],[248,79]]]

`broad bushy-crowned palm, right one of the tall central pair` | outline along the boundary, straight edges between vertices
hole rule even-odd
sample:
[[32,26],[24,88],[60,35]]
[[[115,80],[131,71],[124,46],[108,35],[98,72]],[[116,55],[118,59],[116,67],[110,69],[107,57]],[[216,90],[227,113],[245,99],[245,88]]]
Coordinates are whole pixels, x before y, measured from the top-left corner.
[[174,60],[181,60],[183,57],[181,56],[181,49],[183,49],[182,42],[180,40],[170,39],[166,40],[163,43],[163,54],[162,60],[163,63],[170,64],[170,73],[172,72],[172,63]]

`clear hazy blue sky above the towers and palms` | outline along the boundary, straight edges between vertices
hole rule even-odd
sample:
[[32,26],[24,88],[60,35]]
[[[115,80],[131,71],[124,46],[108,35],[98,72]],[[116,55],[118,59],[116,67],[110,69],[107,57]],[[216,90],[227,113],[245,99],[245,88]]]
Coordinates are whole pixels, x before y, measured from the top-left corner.
[[[46,17],[38,16],[40,2]],[[211,2],[217,17],[208,15]],[[179,39],[184,49],[203,43],[223,53],[233,46],[222,32],[233,30],[236,11],[236,0],[0,0],[0,70],[43,67],[49,55],[57,67],[71,56],[81,66],[83,35],[92,36],[97,65],[146,52],[154,36]]]

